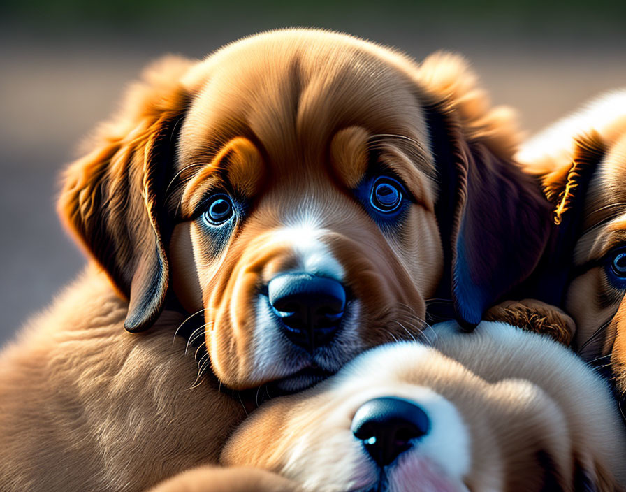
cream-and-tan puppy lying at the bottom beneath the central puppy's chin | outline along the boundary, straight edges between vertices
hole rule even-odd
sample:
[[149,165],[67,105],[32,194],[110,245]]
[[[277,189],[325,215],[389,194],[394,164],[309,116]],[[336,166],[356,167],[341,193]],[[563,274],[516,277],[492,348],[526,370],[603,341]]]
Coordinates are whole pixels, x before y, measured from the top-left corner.
[[[626,441],[602,380],[548,338],[476,329],[449,324],[437,349],[373,349],[316,388],[262,405],[222,461],[311,491],[614,490]],[[576,396],[582,388],[591,401]]]

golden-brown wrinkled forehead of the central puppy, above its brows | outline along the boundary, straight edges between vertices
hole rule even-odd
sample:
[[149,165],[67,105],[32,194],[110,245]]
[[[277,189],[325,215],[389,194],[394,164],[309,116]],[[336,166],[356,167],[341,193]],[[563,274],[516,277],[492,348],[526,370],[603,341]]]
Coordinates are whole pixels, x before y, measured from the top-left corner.
[[196,89],[180,132],[180,166],[207,161],[240,136],[274,171],[319,164],[335,133],[349,126],[425,143],[410,70],[399,55],[342,36],[235,43],[189,75]]

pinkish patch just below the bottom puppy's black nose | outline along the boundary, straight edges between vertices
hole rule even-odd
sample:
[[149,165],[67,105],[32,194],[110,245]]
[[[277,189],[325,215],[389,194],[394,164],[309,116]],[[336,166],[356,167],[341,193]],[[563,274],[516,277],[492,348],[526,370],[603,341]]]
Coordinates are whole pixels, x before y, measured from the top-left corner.
[[407,456],[389,474],[393,492],[458,492],[442,468],[423,456]]

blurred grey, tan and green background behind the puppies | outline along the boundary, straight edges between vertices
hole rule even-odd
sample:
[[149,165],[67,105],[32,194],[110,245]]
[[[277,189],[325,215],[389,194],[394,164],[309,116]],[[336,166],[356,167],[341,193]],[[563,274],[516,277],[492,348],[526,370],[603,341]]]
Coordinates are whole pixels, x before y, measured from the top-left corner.
[[0,345],[84,263],[55,215],[59,170],[164,52],[204,57],[289,26],[346,31],[417,59],[454,50],[532,132],[626,86],[625,25],[623,0],[0,0]]

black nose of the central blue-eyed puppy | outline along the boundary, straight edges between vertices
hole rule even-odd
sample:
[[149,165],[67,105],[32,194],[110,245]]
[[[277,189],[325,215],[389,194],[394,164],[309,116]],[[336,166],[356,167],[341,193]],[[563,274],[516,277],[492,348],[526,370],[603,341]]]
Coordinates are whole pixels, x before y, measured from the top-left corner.
[[284,333],[296,345],[314,349],[335,335],[346,307],[344,286],[310,273],[284,273],[268,284],[270,304]]

